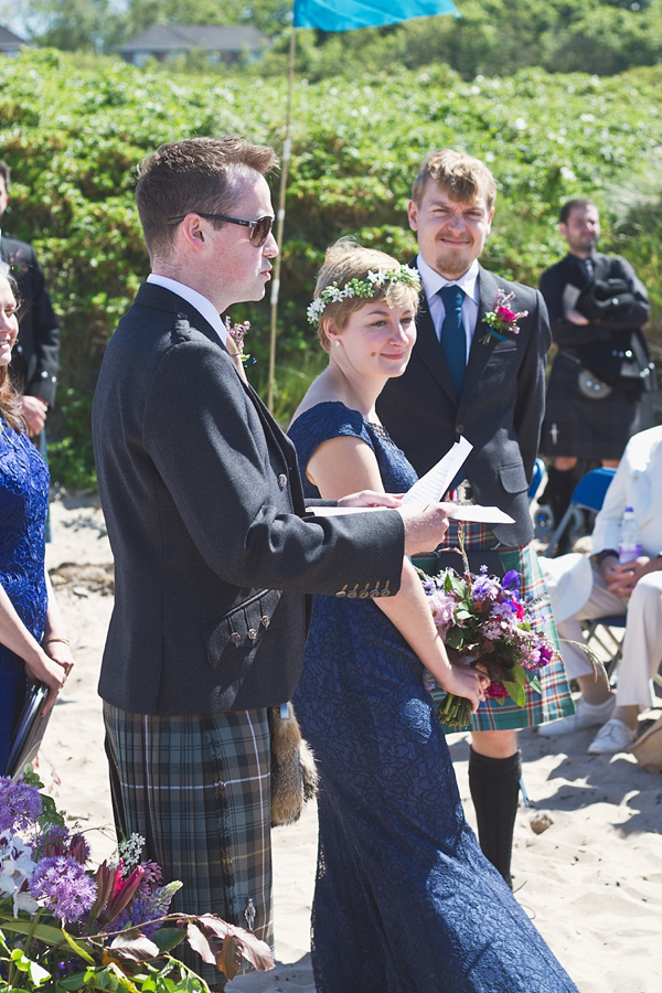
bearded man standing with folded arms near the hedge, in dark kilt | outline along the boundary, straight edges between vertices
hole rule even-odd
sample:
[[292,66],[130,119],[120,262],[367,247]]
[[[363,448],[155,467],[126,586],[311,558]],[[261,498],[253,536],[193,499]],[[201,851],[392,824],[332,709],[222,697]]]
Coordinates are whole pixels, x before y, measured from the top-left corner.
[[[541,503],[558,524],[591,462],[616,468],[628,440],[644,427],[644,392],[655,377],[643,325],[651,308],[627,259],[596,250],[598,209],[586,196],[560,209],[568,254],[545,269],[541,292],[549,311],[554,359],[541,451],[548,483]],[[569,551],[568,535],[562,545]]]

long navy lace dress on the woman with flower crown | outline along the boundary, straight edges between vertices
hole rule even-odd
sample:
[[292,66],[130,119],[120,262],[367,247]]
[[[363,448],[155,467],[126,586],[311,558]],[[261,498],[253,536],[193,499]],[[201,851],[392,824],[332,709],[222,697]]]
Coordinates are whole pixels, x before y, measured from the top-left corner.
[[[308,460],[362,438],[384,488],[414,469],[381,426],[321,403],[290,427]],[[484,858],[423,665],[371,599],[316,597],[295,708],[320,772],[318,993],[568,993],[575,984]]]

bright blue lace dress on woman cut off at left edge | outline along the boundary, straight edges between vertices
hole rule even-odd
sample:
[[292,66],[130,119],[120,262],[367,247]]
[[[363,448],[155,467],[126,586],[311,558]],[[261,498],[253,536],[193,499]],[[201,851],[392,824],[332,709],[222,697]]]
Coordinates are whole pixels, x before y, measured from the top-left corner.
[[[0,418],[0,583],[17,613],[41,641],[47,608],[44,525],[49,469],[26,435]],[[0,775],[13,724],[25,700],[23,660],[0,644]]]

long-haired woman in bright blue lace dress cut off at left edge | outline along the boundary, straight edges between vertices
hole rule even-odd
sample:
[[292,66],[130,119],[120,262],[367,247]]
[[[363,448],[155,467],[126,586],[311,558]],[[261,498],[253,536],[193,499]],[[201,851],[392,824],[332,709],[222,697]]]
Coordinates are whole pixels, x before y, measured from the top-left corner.
[[50,686],[49,708],[73,665],[44,566],[49,470],[8,381],[18,330],[14,288],[0,264],[0,775],[29,682]]

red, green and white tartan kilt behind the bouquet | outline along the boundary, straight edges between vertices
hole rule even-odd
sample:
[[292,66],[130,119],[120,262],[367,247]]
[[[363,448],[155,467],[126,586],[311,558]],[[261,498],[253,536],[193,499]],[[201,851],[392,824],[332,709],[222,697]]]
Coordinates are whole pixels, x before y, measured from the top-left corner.
[[[465,532],[466,548],[496,548],[498,540],[485,524],[466,522],[462,525]],[[451,521],[444,546],[458,547],[458,522]],[[533,624],[536,630],[545,632],[547,638],[559,649],[556,624],[552,616],[548,597],[546,597],[545,580],[532,544],[519,545],[501,553],[504,568],[516,569],[521,573],[520,597],[523,602],[543,597],[540,606],[536,606],[537,620]],[[509,728],[535,727],[557,717],[565,717],[575,713],[575,705],[570,696],[570,687],[560,658],[549,662],[538,672],[542,693],[536,693],[531,685],[526,685],[526,703],[519,707],[510,697],[505,703],[498,700],[483,701],[477,713],[471,716],[471,730],[505,730]],[[435,701],[445,697],[442,690],[434,690]]]

